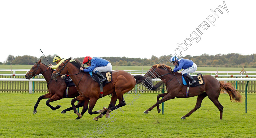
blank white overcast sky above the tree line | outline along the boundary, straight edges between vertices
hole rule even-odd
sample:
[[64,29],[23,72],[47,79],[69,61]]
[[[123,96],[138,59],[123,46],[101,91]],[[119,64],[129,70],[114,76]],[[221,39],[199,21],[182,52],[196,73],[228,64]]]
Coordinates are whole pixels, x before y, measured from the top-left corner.
[[62,58],[256,53],[256,2],[224,2],[0,1],[0,62],[8,55],[39,58],[39,49]]

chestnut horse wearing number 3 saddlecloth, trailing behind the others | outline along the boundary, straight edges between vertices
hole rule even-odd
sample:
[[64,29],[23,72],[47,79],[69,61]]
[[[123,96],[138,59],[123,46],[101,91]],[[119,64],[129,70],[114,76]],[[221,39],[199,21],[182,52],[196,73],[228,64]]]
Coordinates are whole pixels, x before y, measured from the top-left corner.
[[[169,99],[174,99],[175,97],[186,98],[187,86],[182,84],[182,74],[173,72],[170,66],[156,64],[152,66],[144,76],[148,76],[152,79],[160,78],[165,83],[167,89],[167,93],[158,94],[157,102],[152,107],[144,111],[144,113],[148,113],[148,111],[151,111],[153,108],[155,108],[155,106],[157,106],[157,111],[160,113],[161,109],[159,109],[159,104]],[[197,103],[194,109],[192,109],[185,116],[181,117],[181,119],[186,119],[186,117],[190,116],[192,113],[194,113],[194,111],[199,109],[201,107],[202,100],[206,96],[208,96],[212,103],[214,103],[214,105],[219,109],[220,119],[222,119],[223,106],[218,100],[221,89],[224,89],[229,94],[231,102],[242,102],[240,93],[237,92],[231,84],[219,82],[211,75],[204,75],[203,79],[205,82],[203,85],[189,88],[188,97],[197,96]],[[160,97],[163,98],[159,100]]]

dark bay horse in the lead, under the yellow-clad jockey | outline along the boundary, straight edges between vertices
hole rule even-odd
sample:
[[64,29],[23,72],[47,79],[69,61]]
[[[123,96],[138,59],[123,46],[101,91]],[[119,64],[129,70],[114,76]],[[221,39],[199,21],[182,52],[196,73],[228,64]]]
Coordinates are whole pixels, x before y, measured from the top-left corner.
[[[66,93],[67,86],[66,86],[66,83],[64,82],[64,79],[58,79],[58,81],[51,79],[50,75],[52,74],[52,72],[53,71],[51,70],[51,68],[49,68],[44,63],[41,63],[41,59],[40,59],[38,62],[34,64],[34,66],[32,66],[32,68],[25,75],[26,79],[30,79],[30,78],[33,78],[34,76],[42,74],[47,83],[48,93],[40,96],[37,99],[37,103],[34,106],[34,114],[37,113],[37,110],[36,110],[37,106],[42,99],[49,98],[46,101],[46,105],[49,106],[52,110],[56,110],[56,109],[59,109],[61,106],[57,105],[56,107],[53,107],[49,104],[50,102],[57,101],[62,98],[74,98],[79,96],[79,93],[75,86],[70,86],[68,89],[68,93]],[[84,102],[79,101],[76,108],[82,107],[83,105],[84,105]],[[66,113],[67,111],[70,111],[72,109],[73,109],[72,107],[67,108],[63,110],[61,113]]]

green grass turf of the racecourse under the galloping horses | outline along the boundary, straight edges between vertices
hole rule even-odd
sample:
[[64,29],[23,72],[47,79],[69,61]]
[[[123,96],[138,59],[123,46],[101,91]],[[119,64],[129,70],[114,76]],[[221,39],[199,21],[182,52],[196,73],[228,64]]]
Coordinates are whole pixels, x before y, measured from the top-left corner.
[[[97,114],[89,115],[87,112],[79,120],[75,120],[77,116],[73,111],[61,114],[63,109],[70,107],[71,99],[50,103],[54,107],[62,105],[55,111],[46,106],[46,99],[43,99],[39,103],[37,113],[33,115],[34,104],[41,95],[0,93],[1,138],[256,137],[255,94],[248,94],[247,113],[245,102],[232,103],[227,94],[221,94],[219,101],[224,106],[222,120],[219,119],[219,110],[208,98],[203,100],[200,109],[183,120],[180,117],[194,108],[196,97],[166,101],[162,115],[162,112],[157,113],[156,108],[148,114],[143,113],[155,104],[156,93],[142,93],[140,96],[137,95],[137,99],[129,95],[126,103],[133,101],[133,104],[121,107],[122,110],[112,111],[112,116],[108,119],[103,116],[98,121],[92,120]],[[109,101],[108,96],[99,99],[94,111],[107,107]]]

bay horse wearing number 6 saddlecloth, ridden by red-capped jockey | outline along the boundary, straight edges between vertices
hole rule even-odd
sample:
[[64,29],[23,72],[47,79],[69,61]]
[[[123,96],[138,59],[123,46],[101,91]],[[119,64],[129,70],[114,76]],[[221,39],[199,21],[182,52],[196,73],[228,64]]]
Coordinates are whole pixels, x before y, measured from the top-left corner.
[[[80,93],[80,96],[72,99],[71,104],[73,106],[74,113],[77,114],[80,118],[83,116],[83,114],[88,109],[88,103],[89,114],[96,114],[101,113],[99,116],[95,117],[93,120],[98,120],[98,118],[101,118],[106,114],[106,118],[109,116],[109,113],[112,110],[115,110],[117,108],[120,108],[122,106],[125,106],[126,103],[123,99],[123,94],[129,92],[136,84],[139,84],[145,80],[148,79],[148,77],[144,76],[133,76],[130,73],[123,71],[123,70],[115,70],[112,71],[111,75],[111,82],[105,84],[103,87],[104,94],[103,96],[107,96],[112,94],[111,101],[109,103],[108,108],[103,108],[98,111],[92,111],[97,100],[101,98],[100,96],[100,87],[98,82],[94,81],[91,77],[91,75],[88,72],[83,72],[80,70],[81,62],[78,60],[70,61],[71,58],[66,59],[63,61],[60,66],[51,74],[52,79],[57,79],[57,77],[60,76],[60,74],[66,74],[69,73],[69,76],[73,80],[73,82],[76,84],[76,86],[79,88],[78,92]],[[136,79],[136,80],[135,80]],[[148,80],[150,83],[151,80]],[[119,104],[116,105],[117,99],[119,100]],[[84,100],[84,107],[81,113],[78,113],[74,102],[77,100]]]

